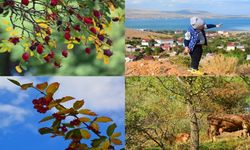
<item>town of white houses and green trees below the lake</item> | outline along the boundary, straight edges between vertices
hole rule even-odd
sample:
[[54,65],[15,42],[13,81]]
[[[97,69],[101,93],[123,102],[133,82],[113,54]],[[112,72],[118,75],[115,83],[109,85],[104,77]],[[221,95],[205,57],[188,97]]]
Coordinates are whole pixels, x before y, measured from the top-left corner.
[[[145,30],[140,30],[145,32]],[[153,31],[146,31],[153,32]],[[158,32],[159,33],[159,32]],[[141,38],[138,35],[126,37],[126,62],[140,59],[155,60],[164,57],[176,56],[183,51],[185,31],[162,31],[167,37],[151,36]],[[207,33],[209,45],[204,48],[204,54],[212,53],[241,53],[244,58],[250,60],[250,33],[209,31]],[[247,55],[248,54],[248,55]],[[244,60],[243,60],[244,61]]]

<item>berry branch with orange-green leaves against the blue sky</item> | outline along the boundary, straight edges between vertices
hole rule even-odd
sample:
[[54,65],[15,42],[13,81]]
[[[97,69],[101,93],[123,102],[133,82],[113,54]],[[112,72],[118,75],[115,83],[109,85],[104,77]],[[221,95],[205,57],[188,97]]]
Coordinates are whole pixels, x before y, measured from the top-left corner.
[[[37,112],[45,114],[51,109],[55,110],[55,113],[40,121],[40,123],[50,121],[51,126],[40,128],[39,132],[42,135],[51,134],[51,137],[62,136],[65,140],[71,140],[66,150],[113,150],[115,145],[122,144],[119,139],[121,133],[115,132],[117,127],[115,123],[108,125],[106,135],[100,130],[100,124],[107,124],[113,120],[106,116],[98,116],[95,112],[83,108],[84,100],[77,100],[72,107],[66,108],[63,103],[74,100],[73,97],[65,96],[54,99],[53,96],[60,86],[58,82],[33,85],[33,83],[21,84],[13,79],[8,80],[22,90],[31,88],[39,92],[41,97],[32,100]],[[86,140],[91,141],[91,144],[86,144]]]

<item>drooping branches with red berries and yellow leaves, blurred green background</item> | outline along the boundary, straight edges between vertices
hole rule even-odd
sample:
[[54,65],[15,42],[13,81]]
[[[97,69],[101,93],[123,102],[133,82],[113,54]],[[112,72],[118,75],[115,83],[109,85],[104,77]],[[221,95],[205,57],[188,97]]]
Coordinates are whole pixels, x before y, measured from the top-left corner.
[[23,47],[21,73],[30,61],[40,61],[60,68],[75,45],[83,45],[87,55],[95,51],[105,64],[113,55],[107,33],[124,16],[114,15],[124,9],[124,0],[0,0],[0,16],[9,33],[0,42],[0,53]]

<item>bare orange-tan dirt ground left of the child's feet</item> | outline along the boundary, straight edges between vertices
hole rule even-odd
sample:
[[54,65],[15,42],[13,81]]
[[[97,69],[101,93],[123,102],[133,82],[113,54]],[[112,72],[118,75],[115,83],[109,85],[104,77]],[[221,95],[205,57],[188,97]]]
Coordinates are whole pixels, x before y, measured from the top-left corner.
[[187,68],[174,65],[168,60],[139,60],[126,63],[125,76],[191,76]]

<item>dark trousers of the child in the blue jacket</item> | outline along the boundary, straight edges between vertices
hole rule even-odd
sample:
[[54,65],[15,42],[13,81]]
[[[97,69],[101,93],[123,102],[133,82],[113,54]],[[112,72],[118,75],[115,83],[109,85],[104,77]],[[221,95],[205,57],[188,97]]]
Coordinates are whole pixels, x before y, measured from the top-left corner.
[[191,56],[191,65],[190,67],[193,69],[199,68],[199,63],[202,55],[202,45],[195,45],[194,50],[190,53]]

